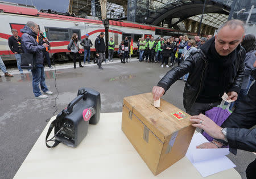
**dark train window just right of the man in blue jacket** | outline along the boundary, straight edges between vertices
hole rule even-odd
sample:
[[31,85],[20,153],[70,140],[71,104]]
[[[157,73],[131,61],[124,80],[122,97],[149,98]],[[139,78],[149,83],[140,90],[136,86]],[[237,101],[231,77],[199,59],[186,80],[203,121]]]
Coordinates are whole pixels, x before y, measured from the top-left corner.
[[46,32],[50,41],[68,41],[71,39],[69,38],[68,29],[46,27]]

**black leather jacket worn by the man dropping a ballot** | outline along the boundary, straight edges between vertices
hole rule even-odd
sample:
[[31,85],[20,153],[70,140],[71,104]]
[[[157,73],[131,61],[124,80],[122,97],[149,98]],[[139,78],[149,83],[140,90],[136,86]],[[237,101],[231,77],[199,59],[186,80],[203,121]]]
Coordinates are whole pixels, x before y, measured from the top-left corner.
[[[205,45],[207,45],[205,43]],[[208,43],[210,46],[211,44]],[[237,74],[232,81],[232,84],[228,84],[228,91],[236,91],[237,93],[241,90],[243,73],[245,65],[243,63],[245,59],[245,49],[241,45],[237,46],[236,61],[234,62]],[[179,66],[174,67],[168,71],[166,75],[160,80],[158,86],[163,87],[165,92],[170,88],[172,84],[176,82],[181,76],[189,73],[188,80],[185,83],[183,93],[183,105],[186,110],[191,109],[192,105],[195,104],[197,97],[204,87],[204,81],[207,74],[208,59],[204,52],[199,49],[190,56]],[[216,72],[217,73],[217,72]],[[213,74],[214,75],[214,74]],[[221,96],[220,96],[221,97]]]

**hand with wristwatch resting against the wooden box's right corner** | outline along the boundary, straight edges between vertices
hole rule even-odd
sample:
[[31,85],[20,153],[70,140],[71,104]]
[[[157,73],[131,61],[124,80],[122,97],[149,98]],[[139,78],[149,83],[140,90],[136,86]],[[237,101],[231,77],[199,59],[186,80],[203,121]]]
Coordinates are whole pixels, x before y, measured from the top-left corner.
[[192,123],[192,126],[203,129],[211,137],[224,140],[224,135],[221,133],[221,127],[204,114],[192,116],[190,122]]

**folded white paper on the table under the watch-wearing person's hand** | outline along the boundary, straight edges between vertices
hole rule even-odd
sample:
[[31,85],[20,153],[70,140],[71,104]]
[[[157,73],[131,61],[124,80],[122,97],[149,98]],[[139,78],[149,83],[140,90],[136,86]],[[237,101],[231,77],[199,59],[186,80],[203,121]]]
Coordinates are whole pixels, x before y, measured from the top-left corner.
[[195,166],[197,171],[203,177],[211,174],[225,171],[226,169],[236,167],[225,155],[229,154],[228,148],[205,148],[197,149],[196,146],[209,142],[201,133],[193,135],[188,147],[187,158]]

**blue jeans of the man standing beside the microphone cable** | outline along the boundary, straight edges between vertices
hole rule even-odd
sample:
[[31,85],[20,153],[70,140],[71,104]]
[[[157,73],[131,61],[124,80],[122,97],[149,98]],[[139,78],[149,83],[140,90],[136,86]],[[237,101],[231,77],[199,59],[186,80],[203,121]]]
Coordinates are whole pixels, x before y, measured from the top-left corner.
[[35,97],[42,95],[39,84],[43,92],[47,92],[46,75],[44,75],[44,67],[36,67],[32,71],[32,87]]

